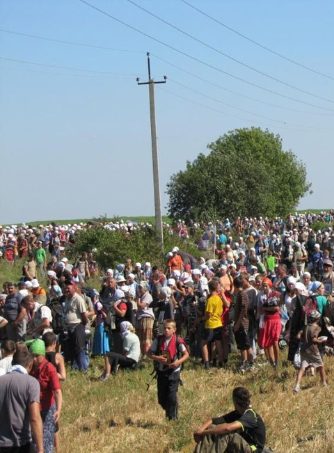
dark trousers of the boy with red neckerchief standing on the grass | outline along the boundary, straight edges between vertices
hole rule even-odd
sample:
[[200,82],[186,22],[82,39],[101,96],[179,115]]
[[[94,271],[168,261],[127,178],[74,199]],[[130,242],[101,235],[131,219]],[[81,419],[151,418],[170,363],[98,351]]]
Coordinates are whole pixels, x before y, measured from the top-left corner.
[[157,375],[158,402],[169,420],[177,420],[177,388],[180,372],[161,372]]

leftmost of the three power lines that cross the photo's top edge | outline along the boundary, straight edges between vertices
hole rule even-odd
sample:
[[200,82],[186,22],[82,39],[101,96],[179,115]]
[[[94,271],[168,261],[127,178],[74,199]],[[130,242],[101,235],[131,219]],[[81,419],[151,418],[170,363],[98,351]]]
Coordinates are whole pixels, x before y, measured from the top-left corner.
[[102,14],[106,15],[107,17],[110,17],[111,19],[115,20],[116,22],[127,26],[129,29],[132,29],[132,30],[136,31],[137,33],[141,33],[141,35],[146,36],[147,38],[150,38],[150,39],[154,40],[155,42],[159,42],[159,44],[164,45],[165,47],[168,47],[168,49],[172,49],[172,50],[176,51],[177,53],[179,53],[181,55],[184,55],[184,56],[187,56],[188,58],[191,58],[191,60],[193,60],[193,61],[197,61],[198,63],[201,63],[202,65],[205,65],[207,67],[211,67],[212,69],[214,69],[214,70],[216,70],[218,72],[221,72],[222,74],[227,74],[230,77],[233,77],[234,79],[237,79],[237,80],[240,80],[240,81],[244,82],[245,84],[248,84],[248,85],[251,85],[251,86],[255,86],[256,88],[260,88],[260,90],[267,91],[267,93],[272,93],[272,94],[278,95],[280,97],[285,97],[285,99],[289,99],[289,100],[292,100],[292,101],[295,101],[295,102],[299,102],[301,104],[309,105],[309,106],[312,106],[312,107],[317,107],[317,109],[324,109],[324,110],[328,110],[328,111],[334,111],[333,109],[327,109],[326,107],[322,107],[322,106],[319,106],[317,104],[311,104],[310,102],[301,101],[301,100],[295,99],[294,97],[283,95],[283,94],[277,93],[276,91],[273,91],[273,90],[269,90],[269,88],[264,88],[263,86],[260,86],[260,85],[257,85],[257,84],[253,84],[252,82],[247,81],[245,79],[241,79],[241,77],[237,77],[237,76],[235,76],[233,74],[230,74],[229,72],[223,71],[220,67],[216,67],[214,65],[211,65],[210,63],[206,63],[205,61],[200,60],[199,58],[196,58],[195,56],[192,56],[190,54],[186,54],[186,52],[184,52],[184,51],[182,51],[180,49],[177,49],[176,47],[173,47],[173,46],[171,46],[169,44],[166,44],[166,42],[161,41],[158,38],[154,38],[153,36],[149,35],[148,33],[145,33],[145,31],[141,31],[139,29],[136,29],[136,27],[127,24],[126,22],[118,19],[117,17],[114,17],[113,15],[111,15],[109,13],[106,13],[106,11],[101,10],[100,8],[97,8],[97,6],[94,6],[91,3],[88,3],[88,1],[86,1],[86,0],[79,0],[79,1],[81,1],[81,3],[85,3],[87,6],[90,6],[90,8],[93,8],[94,10],[99,11],[99,13],[102,13]]

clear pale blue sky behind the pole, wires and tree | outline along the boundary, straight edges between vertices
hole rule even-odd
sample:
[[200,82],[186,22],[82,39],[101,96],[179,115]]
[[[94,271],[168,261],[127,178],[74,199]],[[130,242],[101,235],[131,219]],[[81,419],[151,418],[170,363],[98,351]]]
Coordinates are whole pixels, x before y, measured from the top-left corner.
[[[207,152],[207,143],[218,136],[252,125],[280,134],[283,148],[305,162],[314,193],[301,200],[300,208],[333,207],[333,79],[269,53],[180,0],[136,3],[219,51],[326,100],[225,58],[127,0],[88,1],[209,65],[322,109],[268,93],[193,61],[79,0],[3,0],[1,29],[138,53],[0,32],[3,58],[91,71],[1,59],[1,223],[104,213],[154,214],[148,86],[136,84],[137,76],[143,81],[146,78],[146,51],[152,54],[154,79],[168,77],[166,86],[156,88],[164,207],[170,175],[184,169],[186,161],[199,152]],[[334,77],[332,1],[188,1],[262,45]],[[255,100],[196,79],[156,56]],[[208,99],[175,81],[250,113]]]

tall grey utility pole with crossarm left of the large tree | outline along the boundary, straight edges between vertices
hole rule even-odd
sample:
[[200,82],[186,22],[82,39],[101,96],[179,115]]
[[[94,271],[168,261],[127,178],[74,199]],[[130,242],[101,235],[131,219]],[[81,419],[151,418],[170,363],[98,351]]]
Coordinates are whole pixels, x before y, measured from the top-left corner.
[[160,183],[159,183],[159,161],[158,161],[158,143],[157,143],[157,125],[155,122],[155,104],[154,104],[154,84],[166,84],[167,77],[163,81],[154,81],[151,79],[150,53],[148,56],[148,82],[140,82],[136,79],[138,85],[148,85],[150,95],[150,120],[151,120],[151,141],[152,141],[152,162],[153,162],[153,186],[154,186],[154,209],[155,225],[158,232],[159,246],[161,253],[164,253],[164,232],[162,230],[161,218],[161,201],[160,201]]

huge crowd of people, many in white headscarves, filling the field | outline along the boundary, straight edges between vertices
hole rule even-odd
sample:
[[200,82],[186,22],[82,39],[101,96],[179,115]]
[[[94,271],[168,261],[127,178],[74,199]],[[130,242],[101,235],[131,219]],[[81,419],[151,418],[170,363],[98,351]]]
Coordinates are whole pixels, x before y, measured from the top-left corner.
[[[314,231],[315,221],[326,226]],[[37,450],[53,452],[58,445],[65,363],[87,372],[95,356],[104,357],[102,381],[118,369],[135,372],[146,360],[154,360],[158,402],[169,420],[178,417],[180,371],[189,355],[207,371],[224,369],[230,367],[230,353],[237,348],[236,371],[244,374],[266,365],[278,367],[287,347],[288,359],[299,369],[295,393],[305,371],[312,375],[319,371],[322,385],[328,386],[324,356],[334,353],[332,221],[331,212],[326,212],[291,215],[284,221],[260,217],[225,219],[215,225],[178,221],[172,228],[166,224],[171,235],[184,241],[200,229],[198,248],[205,250],[204,256],[194,257],[175,246],[164,265],[133,263],[126,257],[124,264],[102,272],[100,285],[96,285],[99,269],[94,250],[74,260],[66,255],[77,233],[95,228],[94,223],[1,227],[3,260],[11,262],[12,256],[24,260],[22,278],[4,282],[0,294],[0,388],[8,390],[15,376],[17,392],[25,395],[22,405],[33,404],[28,413],[21,411],[18,421],[13,412],[18,404],[15,395],[0,391],[1,416],[13,404],[13,410],[8,409],[10,423],[22,423],[17,431],[21,434],[1,432],[3,445],[29,445],[30,423]],[[151,227],[133,222],[103,226],[124,235]],[[26,374],[37,379],[40,392],[35,381],[22,380]],[[253,415],[245,406],[249,399],[245,392],[236,390],[233,398],[239,412],[233,418],[213,419],[196,431],[196,451],[211,451],[209,437],[203,440],[210,433],[211,438],[225,436],[219,445],[225,442],[226,448],[229,442],[241,442],[237,436],[227,440],[230,431],[224,429],[225,424],[240,426],[242,422],[236,423],[241,416],[250,423]],[[212,423],[224,428],[210,431]],[[260,440],[252,444],[259,452],[264,447],[262,431]]]

